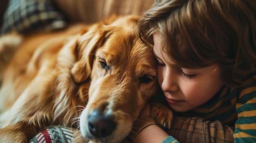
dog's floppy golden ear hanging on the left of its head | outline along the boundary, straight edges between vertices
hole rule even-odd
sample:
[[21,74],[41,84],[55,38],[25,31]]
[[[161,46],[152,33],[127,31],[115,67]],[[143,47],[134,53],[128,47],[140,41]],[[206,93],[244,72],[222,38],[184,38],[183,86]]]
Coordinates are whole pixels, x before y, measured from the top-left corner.
[[95,24],[79,38],[76,50],[78,59],[71,69],[75,83],[81,83],[90,76],[95,52],[110,35],[110,29],[105,26],[103,23]]

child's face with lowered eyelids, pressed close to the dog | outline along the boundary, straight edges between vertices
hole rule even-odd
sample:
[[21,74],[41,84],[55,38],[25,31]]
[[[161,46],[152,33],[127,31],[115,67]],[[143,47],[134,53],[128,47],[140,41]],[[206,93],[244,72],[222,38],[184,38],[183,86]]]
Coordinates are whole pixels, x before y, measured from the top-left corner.
[[219,65],[192,69],[167,64],[171,61],[162,51],[159,38],[159,35],[153,34],[153,50],[159,63],[157,76],[171,108],[177,112],[185,112],[209,101],[223,86]]

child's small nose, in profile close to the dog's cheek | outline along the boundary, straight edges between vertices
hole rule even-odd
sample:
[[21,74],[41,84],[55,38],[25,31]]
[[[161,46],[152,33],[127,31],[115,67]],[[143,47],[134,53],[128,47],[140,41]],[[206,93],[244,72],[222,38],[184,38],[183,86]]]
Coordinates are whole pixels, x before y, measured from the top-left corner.
[[166,69],[162,82],[162,90],[164,92],[177,92],[179,89],[177,83],[177,74],[171,69]]

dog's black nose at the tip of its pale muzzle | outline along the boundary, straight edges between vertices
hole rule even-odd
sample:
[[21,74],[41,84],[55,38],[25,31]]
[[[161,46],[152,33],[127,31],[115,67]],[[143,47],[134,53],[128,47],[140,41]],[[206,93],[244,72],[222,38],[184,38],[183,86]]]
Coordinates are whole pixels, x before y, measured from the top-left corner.
[[116,128],[116,122],[111,116],[106,116],[98,110],[88,116],[88,128],[97,138],[109,136]]

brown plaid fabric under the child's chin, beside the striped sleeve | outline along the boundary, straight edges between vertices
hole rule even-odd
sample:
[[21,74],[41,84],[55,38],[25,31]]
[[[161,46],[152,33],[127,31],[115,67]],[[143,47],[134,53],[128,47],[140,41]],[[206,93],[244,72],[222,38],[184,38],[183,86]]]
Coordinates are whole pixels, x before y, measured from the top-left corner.
[[234,143],[234,128],[198,117],[174,117],[166,132],[180,143]]

